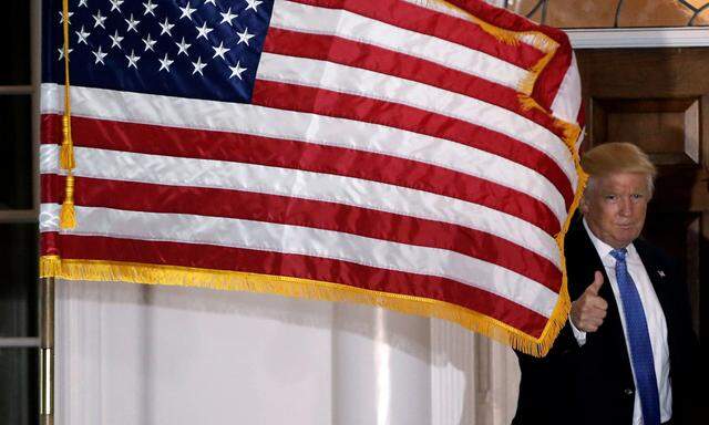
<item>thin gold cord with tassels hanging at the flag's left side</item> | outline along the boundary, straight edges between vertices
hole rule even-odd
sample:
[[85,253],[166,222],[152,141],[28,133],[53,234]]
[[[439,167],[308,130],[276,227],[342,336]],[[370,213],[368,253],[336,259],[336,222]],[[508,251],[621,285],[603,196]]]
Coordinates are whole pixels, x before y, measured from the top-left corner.
[[68,172],[66,189],[64,193],[64,203],[60,216],[59,226],[62,229],[73,229],[76,226],[76,214],[74,211],[74,147],[71,137],[71,99],[69,84],[69,0],[62,0],[62,17],[64,33],[64,116],[62,116],[62,147],[59,155],[59,163],[62,169]]

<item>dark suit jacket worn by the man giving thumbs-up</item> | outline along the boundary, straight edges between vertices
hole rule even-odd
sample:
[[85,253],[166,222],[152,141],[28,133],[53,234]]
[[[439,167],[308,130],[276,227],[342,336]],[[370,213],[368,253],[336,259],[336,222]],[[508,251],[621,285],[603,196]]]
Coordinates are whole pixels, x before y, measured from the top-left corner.
[[[692,367],[699,352],[686,286],[676,265],[659,250],[639,239],[634,245],[667,322],[672,422],[685,424],[696,394],[689,380],[698,373]],[[598,331],[586,334],[580,348],[567,323],[546,357],[517,353],[522,381],[513,424],[630,425],[635,385],[618,305],[578,214],[565,238],[565,256],[571,299],[580,297],[599,270],[605,283],[598,294],[608,302],[608,312]]]

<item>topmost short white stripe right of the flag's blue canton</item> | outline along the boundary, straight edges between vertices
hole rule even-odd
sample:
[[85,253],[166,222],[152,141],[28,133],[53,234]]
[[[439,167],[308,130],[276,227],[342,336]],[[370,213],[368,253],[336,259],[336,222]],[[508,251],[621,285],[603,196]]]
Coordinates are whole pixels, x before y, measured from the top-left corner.
[[435,62],[511,89],[517,89],[520,82],[528,75],[528,71],[487,53],[347,10],[276,1],[270,24],[285,30],[337,35],[377,45]]

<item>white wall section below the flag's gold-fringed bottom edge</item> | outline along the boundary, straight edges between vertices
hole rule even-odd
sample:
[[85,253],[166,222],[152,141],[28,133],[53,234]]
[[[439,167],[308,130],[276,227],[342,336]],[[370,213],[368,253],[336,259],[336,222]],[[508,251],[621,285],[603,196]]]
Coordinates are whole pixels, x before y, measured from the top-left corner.
[[506,348],[368,305],[56,282],[55,423],[508,424]]

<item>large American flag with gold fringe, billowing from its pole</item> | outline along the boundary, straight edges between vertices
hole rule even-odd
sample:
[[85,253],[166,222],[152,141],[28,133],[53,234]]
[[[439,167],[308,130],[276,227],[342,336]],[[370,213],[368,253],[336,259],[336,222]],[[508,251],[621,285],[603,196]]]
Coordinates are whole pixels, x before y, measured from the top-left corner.
[[534,354],[563,325],[561,31],[477,0],[45,0],[43,30],[43,276],[369,302]]

